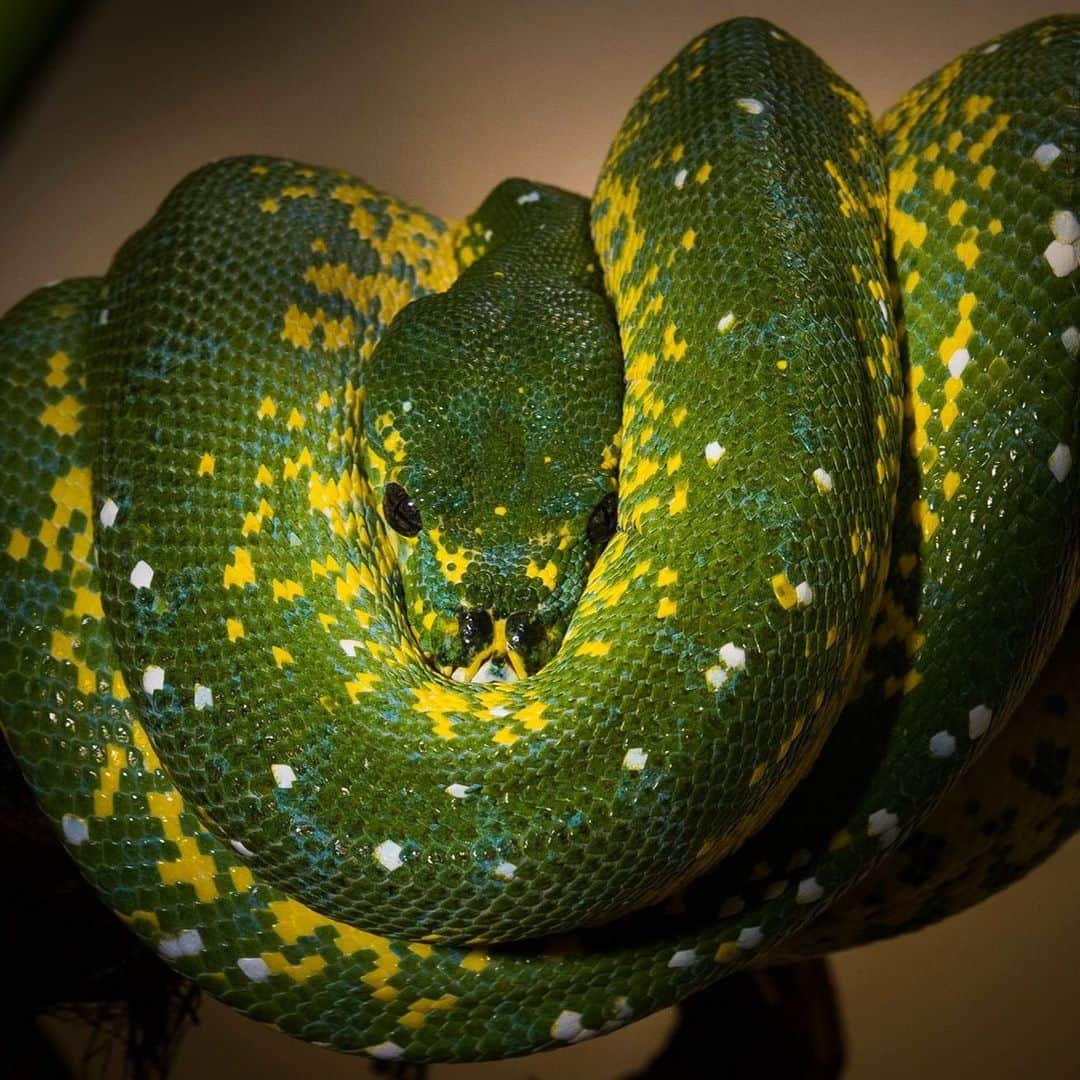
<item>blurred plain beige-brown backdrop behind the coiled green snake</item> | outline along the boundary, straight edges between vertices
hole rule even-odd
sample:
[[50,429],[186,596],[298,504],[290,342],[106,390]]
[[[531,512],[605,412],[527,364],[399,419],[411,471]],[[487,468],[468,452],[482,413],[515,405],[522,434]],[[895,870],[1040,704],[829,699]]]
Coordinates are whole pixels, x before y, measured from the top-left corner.
[[[102,2],[0,146],[0,310],[100,272],[168,188],[213,158],[329,164],[460,215],[518,174],[589,191],[634,95],[696,32],[760,14],[818,50],[876,112],[963,49],[1055,6],[794,2],[457,5]],[[1078,10],[1075,5],[1071,10]],[[1080,1071],[1080,843],[944,926],[836,960],[852,1078],[1040,1080]],[[177,1080],[366,1075],[208,1002]],[[615,1077],[661,1015],[528,1061],[433,1080]],[[717,1018],[717,1053],[738,1038]]]

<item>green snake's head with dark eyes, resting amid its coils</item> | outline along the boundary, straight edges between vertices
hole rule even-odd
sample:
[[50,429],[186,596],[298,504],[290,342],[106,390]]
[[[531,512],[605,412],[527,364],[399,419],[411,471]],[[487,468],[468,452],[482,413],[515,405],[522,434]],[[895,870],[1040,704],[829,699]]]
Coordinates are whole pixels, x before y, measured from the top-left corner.
[[606,301],[494,285],[414,301],[364,369],[364,463],[405,611],[432,665],[463,681],[554,656],[617,516]]

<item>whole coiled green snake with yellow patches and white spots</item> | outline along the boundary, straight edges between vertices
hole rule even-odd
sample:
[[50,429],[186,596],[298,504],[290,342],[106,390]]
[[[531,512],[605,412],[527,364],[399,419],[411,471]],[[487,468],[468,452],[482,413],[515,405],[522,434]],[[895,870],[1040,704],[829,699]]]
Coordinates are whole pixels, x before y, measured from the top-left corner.
[[474,1061],[1059,847],[1078,44],[875,124],[733,19],[591,200],[229,158],[16,305],[0,716],[103,901],[289,1035]]

